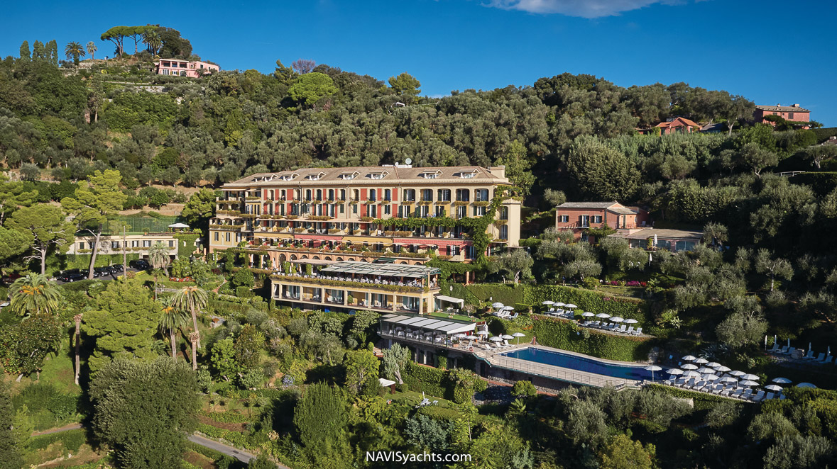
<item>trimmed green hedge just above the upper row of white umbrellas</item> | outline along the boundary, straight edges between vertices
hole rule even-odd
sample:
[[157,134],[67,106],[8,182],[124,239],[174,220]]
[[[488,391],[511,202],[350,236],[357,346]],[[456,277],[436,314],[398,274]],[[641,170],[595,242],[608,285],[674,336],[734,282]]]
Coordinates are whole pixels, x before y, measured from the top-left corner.
[[541,304],[547,300],[572,303],[582,311],[592,311],[597,314],[607,313],[624,319],[636,319],[640,325],[651,323],[649,305],[644,300],[614,297],[582,288],[562,287],[560,285],[526,285],[523,301],[519,303]]

